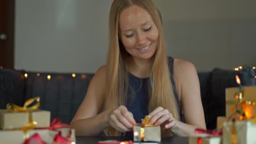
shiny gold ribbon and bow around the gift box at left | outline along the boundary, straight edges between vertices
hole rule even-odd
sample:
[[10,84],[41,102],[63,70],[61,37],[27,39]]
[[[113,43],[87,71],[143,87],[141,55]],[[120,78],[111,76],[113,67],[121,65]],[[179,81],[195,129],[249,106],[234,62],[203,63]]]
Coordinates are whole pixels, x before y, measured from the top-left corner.
[[[28,107],[34,101],[37,101],[37,103],[32,105],[31,107]],[[28,99],[25,102],[23,107],[20,107],[16,104],[8,103],[6,105],[6,109],[8,110],[8,112],[28,112],[29,113],[29,122],[26,125],[24,125],[21,128],[8,129],[8,130],[22,130],[24,139],[28,139],[29,135],[27,133],[27,130],[34,129],[37,125],[37,122],[33,121],[32,111],[35,111],[39,106],[40,106],[40,97],[34,97],[34,98]]]

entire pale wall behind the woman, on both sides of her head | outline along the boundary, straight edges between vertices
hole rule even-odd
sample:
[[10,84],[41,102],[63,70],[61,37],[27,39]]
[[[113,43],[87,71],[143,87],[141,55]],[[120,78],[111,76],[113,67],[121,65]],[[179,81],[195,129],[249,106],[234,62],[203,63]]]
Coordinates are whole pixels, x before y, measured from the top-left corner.
[[[168,55],[192,61],[198,71],[256,65],[256,1],[154,1]],[[111,3],[16,0],[15,67],[96,72],[106,62]]]

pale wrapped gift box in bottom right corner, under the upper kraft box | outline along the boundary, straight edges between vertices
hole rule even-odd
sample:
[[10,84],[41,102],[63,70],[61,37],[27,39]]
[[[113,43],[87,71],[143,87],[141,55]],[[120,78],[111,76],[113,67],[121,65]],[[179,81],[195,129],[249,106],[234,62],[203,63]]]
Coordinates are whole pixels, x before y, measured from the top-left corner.
[[[222,144],[232,144],[232,126],[234,122],[223,123]],[[237,144],[256,144],[256,123],[241,120],[235,122],[235,137]]]

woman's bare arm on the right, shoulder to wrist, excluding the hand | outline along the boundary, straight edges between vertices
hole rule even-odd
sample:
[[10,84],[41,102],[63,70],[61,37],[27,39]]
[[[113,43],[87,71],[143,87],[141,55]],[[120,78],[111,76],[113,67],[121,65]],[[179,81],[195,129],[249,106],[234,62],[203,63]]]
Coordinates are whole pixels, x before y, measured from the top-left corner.
[[175,59],[174,77],[178,84],[182,109],[186,123],[177,121],[171,131],[180,136],[188,136],[195,128],[205,129],[205,117],[200,94],[200,83],[194,64]]

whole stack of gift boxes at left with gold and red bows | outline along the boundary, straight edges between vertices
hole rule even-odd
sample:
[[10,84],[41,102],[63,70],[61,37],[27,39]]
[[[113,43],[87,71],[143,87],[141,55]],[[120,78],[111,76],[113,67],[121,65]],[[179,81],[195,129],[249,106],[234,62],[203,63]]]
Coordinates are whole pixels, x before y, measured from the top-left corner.
[[0,109],[0,143],[75,144],[75,130],[58,117],[50,123],[51,112],[38,109],[39,105],[40,97],[35,97],[23,107],[7,104]]

